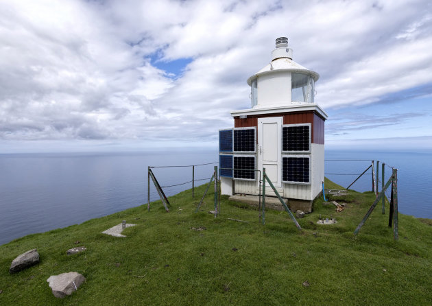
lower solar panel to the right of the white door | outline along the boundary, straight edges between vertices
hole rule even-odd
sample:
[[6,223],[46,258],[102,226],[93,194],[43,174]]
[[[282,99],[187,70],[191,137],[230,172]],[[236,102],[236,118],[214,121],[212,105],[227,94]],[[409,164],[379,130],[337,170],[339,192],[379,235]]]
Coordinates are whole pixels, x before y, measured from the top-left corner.
[[309,156],[283,156],[282,181],[284,183],[311,183]]

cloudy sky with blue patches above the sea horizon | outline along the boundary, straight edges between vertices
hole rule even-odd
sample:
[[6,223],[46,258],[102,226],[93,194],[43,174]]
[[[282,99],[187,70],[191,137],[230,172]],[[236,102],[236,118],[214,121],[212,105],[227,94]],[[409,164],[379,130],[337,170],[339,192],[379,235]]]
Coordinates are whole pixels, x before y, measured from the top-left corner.
[[432,150],[429,0],[0,0],[0,153],[217,150],[280,36],[326,148]]

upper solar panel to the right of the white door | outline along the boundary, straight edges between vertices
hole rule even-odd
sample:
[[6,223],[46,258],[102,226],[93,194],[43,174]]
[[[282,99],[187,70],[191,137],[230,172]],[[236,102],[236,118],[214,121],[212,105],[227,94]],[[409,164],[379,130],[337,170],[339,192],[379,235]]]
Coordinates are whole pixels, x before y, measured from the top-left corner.
[[282,152],[309,152],[310,150],[310,123],[282,126]]

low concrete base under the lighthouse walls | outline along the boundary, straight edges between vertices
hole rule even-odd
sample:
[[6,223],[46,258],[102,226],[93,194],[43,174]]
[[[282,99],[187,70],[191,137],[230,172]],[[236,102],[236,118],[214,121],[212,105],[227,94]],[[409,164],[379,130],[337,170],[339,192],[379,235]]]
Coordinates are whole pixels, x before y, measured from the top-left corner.
[[[258,207],[259,205],[259,196],[252,196],[249,194],[235,194],[233,196],[230,196],[229,200],[231,201],[237,201],[242,202],[246,204],[250,204],[251,206]],[[296,199],[287,199],[283,198],[285,201],[285,204],[287,204],[287,207],[289,207],[289,210],[292,211],[304,211],[304,213],[311,213],[312,212],[312,201],[308,200],[296,200]],[[263,197],[261,197],[261,205],[263,204]],[[285,210],[283,208],[282,203],[280,203],[280,200],[278,198],[272,197],[272,196],[265,196],[265,208],[266,209],[274,209],[276,211],[283,211]]]

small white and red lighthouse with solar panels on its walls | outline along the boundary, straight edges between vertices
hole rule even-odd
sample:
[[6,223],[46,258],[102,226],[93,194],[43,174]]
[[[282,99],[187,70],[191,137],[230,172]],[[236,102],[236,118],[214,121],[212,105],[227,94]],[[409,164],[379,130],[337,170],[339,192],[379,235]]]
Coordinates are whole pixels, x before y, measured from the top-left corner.
[[276,39],[269,64],[247,80],[251,107],[232,110],[234,128],[219,130],[222,194],[258,196],[265,168],[291,210],[311,212],[324,181],[328,118],[315,104],[319,78],[293,61],[286,37]]

